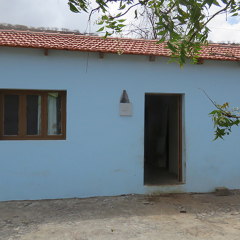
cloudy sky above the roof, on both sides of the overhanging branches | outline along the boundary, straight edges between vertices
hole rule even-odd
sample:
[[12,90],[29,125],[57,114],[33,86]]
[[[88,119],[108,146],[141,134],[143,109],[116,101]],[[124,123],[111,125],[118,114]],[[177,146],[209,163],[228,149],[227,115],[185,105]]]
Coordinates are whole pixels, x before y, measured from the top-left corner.
[[[94,22],[100,14],[95,13],[88,22],[87,13],[71,12],[67,2],[67,0],[0,0],[0,23],[96,32],[99,26]],[[216,10],[218,8],[214,7],[211,13]],[[131,14],[128,17],[131,17]],[[221,14],[214,18],[208,27],[211,30],[209,40],[216,43],[240,43],[240,17],[227,16],[226,21],[226,14]]]

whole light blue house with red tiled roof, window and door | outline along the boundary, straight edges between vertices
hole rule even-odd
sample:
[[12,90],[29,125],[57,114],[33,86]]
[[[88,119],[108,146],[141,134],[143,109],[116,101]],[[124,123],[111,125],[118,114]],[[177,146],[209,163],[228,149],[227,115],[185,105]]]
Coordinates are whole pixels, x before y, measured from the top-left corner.
[[181,69],[155,43],[0,31],[0,201],[240,188],[198,89],[239,106],[240,48]]

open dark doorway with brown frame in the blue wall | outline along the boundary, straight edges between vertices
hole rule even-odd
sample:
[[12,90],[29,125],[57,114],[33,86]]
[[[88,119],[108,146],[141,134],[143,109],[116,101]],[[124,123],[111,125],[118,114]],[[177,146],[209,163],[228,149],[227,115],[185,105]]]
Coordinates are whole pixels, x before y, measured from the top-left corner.
[[145,94],[144,185],[182,182],[182,95]]

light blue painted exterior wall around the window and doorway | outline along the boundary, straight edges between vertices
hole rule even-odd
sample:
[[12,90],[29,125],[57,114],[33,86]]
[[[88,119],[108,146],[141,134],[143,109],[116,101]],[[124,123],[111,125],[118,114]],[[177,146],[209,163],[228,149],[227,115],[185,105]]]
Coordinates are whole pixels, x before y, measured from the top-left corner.
[[[1,89],[67,91],[66,140],[0,141],[0,201],[240,188],[239,130],[212,141],[208,113],[239,106],[238,62],[167,64],[167,58],[0,48]],[[87,71],[86,71],[87,69]],[[126,89],[133,112],[119,116]],[[145,93],[183,94],[183,178],[143,185]]]

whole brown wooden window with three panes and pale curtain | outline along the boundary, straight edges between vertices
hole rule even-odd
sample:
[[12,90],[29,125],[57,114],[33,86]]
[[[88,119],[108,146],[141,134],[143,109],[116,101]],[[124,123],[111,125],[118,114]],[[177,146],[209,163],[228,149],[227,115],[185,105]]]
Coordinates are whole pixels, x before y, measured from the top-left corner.
[[66,91],[0,90],[0,139],[66,139]]

